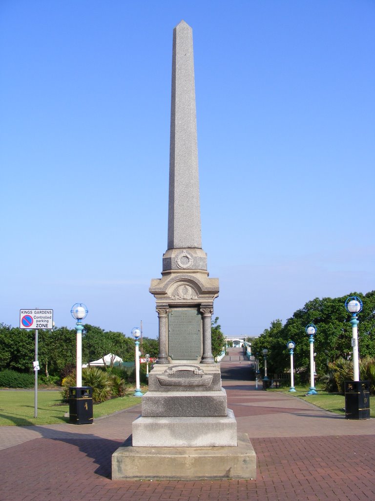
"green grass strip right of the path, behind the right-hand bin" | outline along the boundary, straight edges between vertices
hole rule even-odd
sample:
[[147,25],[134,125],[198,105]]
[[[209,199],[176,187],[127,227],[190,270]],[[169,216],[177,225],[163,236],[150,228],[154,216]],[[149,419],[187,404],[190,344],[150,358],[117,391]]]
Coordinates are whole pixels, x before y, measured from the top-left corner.
[[[268,389],[267,391],[281,391],[293,397],[301,398],[324,410],[336,414],[345,414],[345,397],[336,393],[327,393],[316,387],[317,395],[306,395],[309,386],[295,386],[295,393],[288,391],[289,388]],[[375,417],[375,396],[370,395],[370,417]]]

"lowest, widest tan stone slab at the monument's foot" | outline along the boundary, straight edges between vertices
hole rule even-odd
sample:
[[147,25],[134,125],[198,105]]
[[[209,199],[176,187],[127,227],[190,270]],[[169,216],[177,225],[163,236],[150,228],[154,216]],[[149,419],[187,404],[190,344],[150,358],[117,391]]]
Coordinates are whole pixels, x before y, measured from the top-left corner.
[[246,433],[236,447],[132,447],[112,454],[112,480],[255,479],[256,456]]

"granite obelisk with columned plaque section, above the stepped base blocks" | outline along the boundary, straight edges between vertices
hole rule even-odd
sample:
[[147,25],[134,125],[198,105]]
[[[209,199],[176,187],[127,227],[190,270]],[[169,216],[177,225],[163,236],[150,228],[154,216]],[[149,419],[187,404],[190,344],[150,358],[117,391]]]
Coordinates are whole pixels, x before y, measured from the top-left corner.
[[[192,30],[184,21],[173,30],[167,250],[162,279],[151,281],[150,292],[159,315],[157,362],[192,357],[200,363],[212,363],[211,316],[218,280],[208,279],[207,257],[201,248]],[[188,307],[190,312],[184,313],[190,317],[198,308],[199,334],[196,329],[194,335],[170,330],[176,306]],[[189,320],[193,322],[192,317]],[[187,355],[187,351],[193,353]]]

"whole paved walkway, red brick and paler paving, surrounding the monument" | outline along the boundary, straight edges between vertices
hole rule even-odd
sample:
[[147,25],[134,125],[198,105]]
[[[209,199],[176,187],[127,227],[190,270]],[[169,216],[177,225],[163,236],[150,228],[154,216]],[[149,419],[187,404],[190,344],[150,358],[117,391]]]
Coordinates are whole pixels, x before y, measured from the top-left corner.
[[221,363],[228,407],[257,455],[256,480],[112,481],[111,454],[140,406],[88,425],[0,427],[0,501],[375,500],[375,420],[351,421],[255,390],[232,349]]

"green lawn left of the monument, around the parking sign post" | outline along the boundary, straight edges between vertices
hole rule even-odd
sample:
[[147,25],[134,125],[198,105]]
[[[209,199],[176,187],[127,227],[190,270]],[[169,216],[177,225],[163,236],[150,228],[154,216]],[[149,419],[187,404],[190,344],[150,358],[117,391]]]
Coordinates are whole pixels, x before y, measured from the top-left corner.
[[[61,392],[55,390],[38,391],[37,417],[34,418],[34,391],[0,391],[0,426],[29,426],[32,424],[67,423],[68,404],[61,404]],[[141,397],[132,393],[93,405],[93,417],[97,418],[132,407],[140,403]]]

